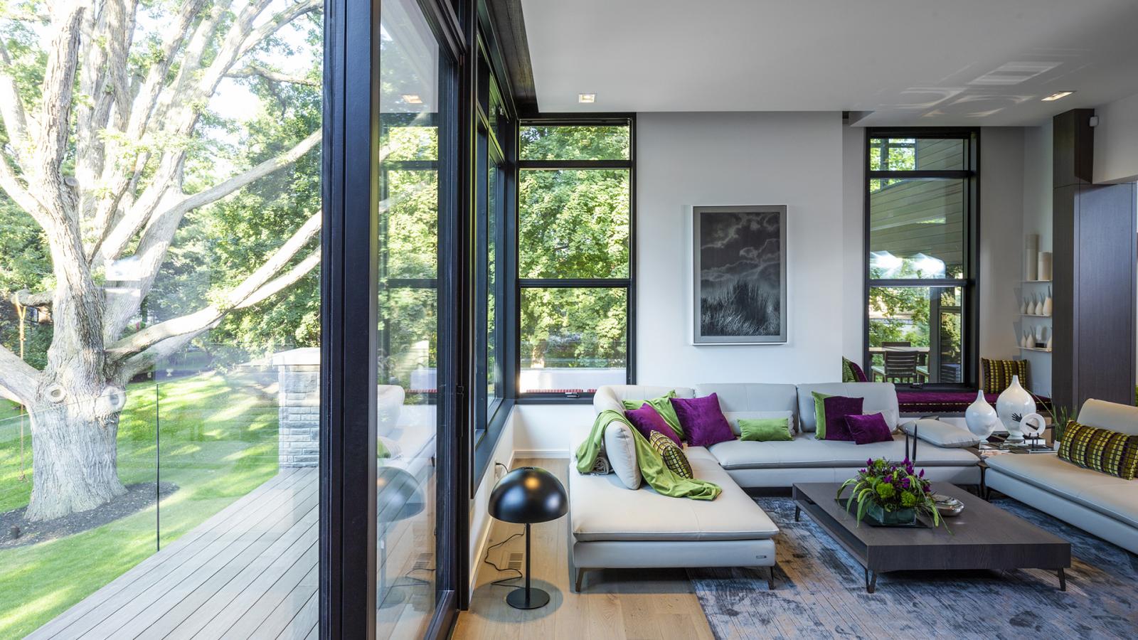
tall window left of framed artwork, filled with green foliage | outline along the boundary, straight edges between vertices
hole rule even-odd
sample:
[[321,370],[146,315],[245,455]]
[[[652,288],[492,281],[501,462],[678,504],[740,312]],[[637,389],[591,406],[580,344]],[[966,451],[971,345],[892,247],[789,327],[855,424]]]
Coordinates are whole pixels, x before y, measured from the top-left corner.
[[522,123],[519,395],[630,379],[634,147],[627,117]]

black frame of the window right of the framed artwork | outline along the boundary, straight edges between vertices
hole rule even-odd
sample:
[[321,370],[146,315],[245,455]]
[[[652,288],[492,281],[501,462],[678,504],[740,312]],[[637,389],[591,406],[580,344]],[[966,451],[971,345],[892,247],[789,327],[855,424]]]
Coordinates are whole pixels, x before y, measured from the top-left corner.
[[[924,138],[924,139],[959,139],[965,143],[964,157],[966,166],[959,170],[914,170],[914,171],[873,171],[871,170],[871,141],[890,138]],[[935,384],[897,384],[900,391],[957,391],[974,389],[979,384],[980,362],[980,129],[964,126],[946,128],[866,128],[865,130],[865,175],[863,189],[865,195],[863,218],[863,354],[861,363],[867,377],[873,378],[873,356],[869,354],[869,290],[873,287],[913,287],[937,288],[959,287],[963,310],[960,313],[962,338],[960,348],[962,380],[959,383]],[[966,230],[964,233],[964,277],[963,278],[871,278],[871,184],[873,180],[889,179],[955,179],[964,180],[966,194],[964,198]],[[932,315],[932,314],[930,314]],[[931,320],[931,319],[930,319]]]

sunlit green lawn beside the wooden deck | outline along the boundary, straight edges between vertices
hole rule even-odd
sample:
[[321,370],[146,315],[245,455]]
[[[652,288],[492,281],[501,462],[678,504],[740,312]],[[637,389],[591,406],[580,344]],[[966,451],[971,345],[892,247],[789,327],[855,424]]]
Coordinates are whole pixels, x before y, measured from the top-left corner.
[[[160,532],[151,506],[68,538],[0,550],[0,638],[31,633],[152,555],[159,539],[173,542],[277,474],[275,397],[254,383],[203,374],[162,383],[157,399],[154,383],[129,387],[118,475],[124,484],[155,481],[159,424],[160,479],[179,486],[162,501]],[[0,512],[26,506],[32,491],[30,430],[28,481],[19,479],[18,416],[0,401]]]

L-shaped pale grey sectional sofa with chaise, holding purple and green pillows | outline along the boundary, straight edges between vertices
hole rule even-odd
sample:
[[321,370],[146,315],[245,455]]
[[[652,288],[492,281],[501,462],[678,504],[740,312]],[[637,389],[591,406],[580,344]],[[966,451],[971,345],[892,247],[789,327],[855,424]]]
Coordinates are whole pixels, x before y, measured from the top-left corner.
[[[712,501],[659,495],[648,486],[627,489],[615,474],[569,474],[572,563],[579,591],[587,569],[638,567],[766,567],[774,588],[774,536],[778,527],[743,489],[789,487],[794,482],[839,482],[852,477],[867,458],[905,459],[905,436],[889,443],[857,445],[815,440],[810,392],[865,399],[864,411],[881,411],[890,426],[899,421],[892,384],[818,385],[716,384],[692,387],[615,385],[596,391],[600,413],[624,411],[624,400],[646,400],[675,391],[677,397],[718,394],[732,428],[740,418],[787,416],[802,433],[789,442],[724,442],[684,451],[695,477],[718,484]],[[591,425],[576,425],[574,449]],[[619,429],[605,432],[605,448],[628,446]],[[570,453],[572,454],[572,452]],[[979,484],[979,458],[964,449],[923,444],[921,465],[937,481]],[[572,460],[571,467],[576,466]]]

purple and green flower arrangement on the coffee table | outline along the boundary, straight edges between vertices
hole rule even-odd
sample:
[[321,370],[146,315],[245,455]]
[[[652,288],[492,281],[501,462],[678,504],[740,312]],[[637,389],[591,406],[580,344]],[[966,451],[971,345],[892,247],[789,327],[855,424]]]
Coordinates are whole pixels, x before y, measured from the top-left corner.
[[882,524],[912,524],[918,512],[927,514],[933,526],[941,524],[940,512],[932,498],[932,489],[924,477],[905,459],[900,465],[885,460],[866,460],[865,468],[858,469],[857,477],[846,481],[838,489],[841,498],[846,487],[851,487],[846,499],[846,511],[857,503],[857,523],[869,514]]

